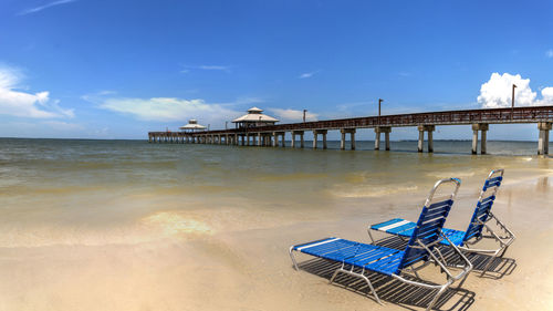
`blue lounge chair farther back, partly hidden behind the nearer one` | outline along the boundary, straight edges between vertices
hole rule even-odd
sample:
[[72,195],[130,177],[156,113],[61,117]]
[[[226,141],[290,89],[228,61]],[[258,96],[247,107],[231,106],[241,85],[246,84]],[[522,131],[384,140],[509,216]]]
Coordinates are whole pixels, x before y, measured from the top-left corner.
[[[470,219],[469,227],[467,231],[455,230],[444,228],[442,234],[449,238],[449,240],[442,240],[441,243],[449,246],[453,243],[460,250],[465,252],[472,253],[481,253],[489,255],[488,263],[483,268],[483,271],[480,276],[483,276],[486,271],[490,268],[493,260],[499,256],[503,257],[509,246],[514,241],[514,234],[507,228],[503,222],[501,222],[492,212],[491,207],[493,201],[495,200],[495,195],[498,193],[499,186],[501,186],[501,182],[503,180],[503,169],[494,169],[489,175],[484,182],[482,190],[480,191],[480,196],[478,198],[477,207],[474,208],[474,212],[472,214],[472,218]],[[499,230],[494,231],[491,228],[491,220],[495,220],[494,227],[498,227]],[[396,235],[399,237],[408,238],[413,235],[415,227],[417,224],[411,222],[409,220],[404,220],[400,218],[390,219],[380,224],[372,225],[368,228],[368,236],[375,242],[371,230],[384,231],[390,235]],[[486,228],[489,236],[484,236],[482,234]],[[482,238],[494,239],[499,243],[499,248],[497,249],[476,249],[472,246]]]

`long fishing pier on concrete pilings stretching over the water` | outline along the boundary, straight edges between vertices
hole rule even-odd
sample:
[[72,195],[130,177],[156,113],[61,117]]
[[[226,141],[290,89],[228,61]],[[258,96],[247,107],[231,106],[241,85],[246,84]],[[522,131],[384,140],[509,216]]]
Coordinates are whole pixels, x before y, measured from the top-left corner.
[[326,135],[328,131],[340,131],[341,149],[346,148],[346,136],[349,136],[349,148],[355,149],[356,131],[359,128],[374,128],[375,149],[379,149],[380,136],[384,133],[385,148],[389,151],[389,137],[394,127],[416,126],[419,133],[418,152],[424,152],[426,133],[426,142],[428,144],[427,152],[432,153],[432,133],[436,131],[436,126],[471,125],[473,133],[472,154],[478,153],[479,141],[480,154],[486,154],[486,136],[490,124],[529,123],[536,124],[540,132],[538,154],[549,154],[550,131],[553,123],[553,106],[409,113],[290,124],[274,124],[274,122],[272,122],[270,124],[257,124],[254,126],[251,124],[248,126],[237,125],[237,128],[201,132],[149,132],[148,142],[285,147],[285,137],[290,135],[292,141],[291,147],[303,148],[305,147],[303,138],[304,133],[312,132],[312,147],[320,147],[319,138],[321,137],[322,148],[324,149],[326,148]]

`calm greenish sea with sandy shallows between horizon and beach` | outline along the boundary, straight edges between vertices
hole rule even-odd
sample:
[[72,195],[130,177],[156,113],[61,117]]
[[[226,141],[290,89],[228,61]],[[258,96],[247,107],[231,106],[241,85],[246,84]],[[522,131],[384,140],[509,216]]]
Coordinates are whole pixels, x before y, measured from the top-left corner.
[[[393,152],[148,144],[144,141],[0,139],[0,247],[137,243],[263,228],[340,214],[348,205],[426,193],[459,177],[478,190],[552,175],[535,142],[392,142]],[[290,142],[288,143],[290,146]],[[311,142],[305,143],[311,146]],[[468,190],[467,190],[468,191]],[[424,197],[421,197],[424,198]]]

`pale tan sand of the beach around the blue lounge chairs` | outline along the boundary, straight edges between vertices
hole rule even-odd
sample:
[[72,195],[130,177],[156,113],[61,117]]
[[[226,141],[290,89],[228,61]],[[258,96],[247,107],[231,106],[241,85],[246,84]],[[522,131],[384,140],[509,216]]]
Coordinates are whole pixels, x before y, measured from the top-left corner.
[[[503,271],[487,278],[471,273],[462,290],[440,301],[440,310],[553,309],[553,174],[505,175],[493,210],[518,239]],[[463,183],[448,227],[466,228],[483,177]],[[240,207],[248,201],[236,200],[215,211],[182,211],[176,201],[143,197],[167,208],[128,228],[74,232],[94,236],[91,240],[2,247],[0,310],[424,310],[424,292],[377,289],[385,302],[379,305],[352,290],[358,288],[355,279],[330,286],[332,270],[295,271],[288,248],[328,236],[369,242],[368,224],[416,219],[430,187],[344,196],[333,201],[340,208],[320,210],[303,203],[252,211]],[[33,232],[28,234],[31,240]],[[41,234],[34,232],[35,239]],[[98,242],[98,235],[107,237]],[[434,267],[424,274],[439,280]]]

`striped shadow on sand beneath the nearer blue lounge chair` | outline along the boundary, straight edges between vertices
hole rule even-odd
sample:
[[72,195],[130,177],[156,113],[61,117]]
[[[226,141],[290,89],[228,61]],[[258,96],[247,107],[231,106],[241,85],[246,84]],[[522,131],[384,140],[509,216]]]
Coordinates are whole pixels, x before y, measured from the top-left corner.
[[[340,262],[320,258],[310,259],[298,265],[298,268],[301,270],[327,279],[328,281],[334,271],[336,271],[340,267],[342,267],[342,263]],[[361,273],[362,270],[356,268],[354,271]],[[367,276],[373,283],[373,287],[382,301],[385,303],[400,305],[407,310],[418,310],[415,308],[421,308],[422,310],[426,309],[436,294],[436,290],[407,284],[379,273],[369,273],[365,271],[365,276]],[[416,280],[415,278],[409,278],[408,276],[406,279]],[[368,284],[358,278],[340,273],[334,279],[333,284],[373,299]],[[440,296],[432,310],[468,310],[474,302],[474,297],[476,293],[472,291],[450,288]]]

